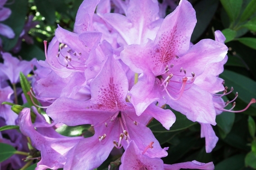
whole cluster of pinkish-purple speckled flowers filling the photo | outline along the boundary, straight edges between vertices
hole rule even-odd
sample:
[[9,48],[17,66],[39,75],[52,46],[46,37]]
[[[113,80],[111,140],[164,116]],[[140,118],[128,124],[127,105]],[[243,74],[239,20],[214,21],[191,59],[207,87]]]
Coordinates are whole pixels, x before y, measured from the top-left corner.
[[[164,164],[161,158],[168,155],[168,148],[162,148],[147,127],[155,119],[170,130],[176,117],[166,109],[169,105],[200,123],[209,153],[218,141],[212,127],[216,115],[232,111],[225,107],[233,101],[221,99],[228,94],[219,78],[227,62],[224,35],[216,30],[215,40],[192,44],[193,7],[181,0],[164,17],[167,3],[84,0],[73,32],[58,26],[48,48],[44,42],[46,60],[31,61],[37,68],[28,92],[34,106],[24,108],[18,119],[1,116],[10,123],[17,119],[23,135],[41,152],[36,169],[94,169],[114,147],[124,149],[120,169],[214,169],[213,162]],[[12,84],[18,75],[7,69],[24,74],[32,70],[22,61],[23,70],[8,65],[17,59],[2,55],[0,75],[4,69]],[[9,87],[0,90],[6,96],[3,101],[11,100]],[[90,125],[93,135],[62,136],[56,128],[63,124]]]

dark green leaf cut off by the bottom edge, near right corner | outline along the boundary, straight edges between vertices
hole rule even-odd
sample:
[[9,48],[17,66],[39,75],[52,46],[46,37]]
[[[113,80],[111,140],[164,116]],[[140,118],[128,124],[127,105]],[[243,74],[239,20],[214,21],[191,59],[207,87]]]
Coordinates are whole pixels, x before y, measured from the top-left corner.
[[237,154],[216,164],[215,170],[240,170],[244,167],[244,154]]

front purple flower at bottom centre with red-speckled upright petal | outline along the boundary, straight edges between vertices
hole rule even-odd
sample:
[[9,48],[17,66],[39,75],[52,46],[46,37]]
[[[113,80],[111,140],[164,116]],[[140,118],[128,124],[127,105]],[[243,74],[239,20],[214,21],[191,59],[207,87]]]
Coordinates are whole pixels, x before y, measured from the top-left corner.
[[94,136],[81,140],[68,153],[65,168],[96,168],[109,156],[114,146],[126,149],[131,140],[142,151],[154,142],[155,147],[145,153],[151,158],[167,155],[166,149],[161,148],[146,125],[157,112],[156,119],[170,128],[175,116],[170,110],[152,104],[145,110],[145,115],[138,117],[134,107],[126,101],[128,81],[119,61],[109,56],[99,75],[91,81],[90,89],[89,101],[60,97],[46,110],[47,115],[57,123],[63,122],[68,126],[91,124],[95,129]]

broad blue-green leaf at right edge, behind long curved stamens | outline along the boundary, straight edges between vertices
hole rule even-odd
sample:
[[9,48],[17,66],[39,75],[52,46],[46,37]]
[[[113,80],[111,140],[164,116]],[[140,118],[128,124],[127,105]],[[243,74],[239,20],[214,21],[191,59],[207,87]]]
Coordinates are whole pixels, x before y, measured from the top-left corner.
[[[238,92],[238,97],[245,103],[249,103],[256,96],[256,82],[233,71],[224,70],[220,78],[225,80],[225,86],[234,87],[233,93]],[[256,108],[255,104],[250,107]]]

